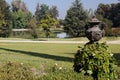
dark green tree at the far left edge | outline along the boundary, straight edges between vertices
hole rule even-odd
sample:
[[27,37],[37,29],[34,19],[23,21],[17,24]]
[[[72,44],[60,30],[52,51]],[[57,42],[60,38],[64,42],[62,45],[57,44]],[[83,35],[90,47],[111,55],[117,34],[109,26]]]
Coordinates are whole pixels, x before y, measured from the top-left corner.
[[0,0],[0,37],[8,37],[10,35],[10,22],[11,15],[9,5],[5,0]]

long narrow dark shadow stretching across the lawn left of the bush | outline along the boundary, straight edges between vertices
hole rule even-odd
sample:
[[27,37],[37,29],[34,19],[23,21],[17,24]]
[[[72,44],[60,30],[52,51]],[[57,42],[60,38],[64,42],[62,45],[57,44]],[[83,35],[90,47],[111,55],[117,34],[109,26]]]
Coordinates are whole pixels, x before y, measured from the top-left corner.
[[16,53],[27,54],[27,55],[30,55],[30,56],[36,56],[36,57],[41,57],[41,58],[46,58],[46,59],[53,59],[53,60],[57,60],[57,61],[67,61],[67,62],[72,62],[73,61],[73,58],[64,57],[64,56],[56,56],[56,55],[37,53],[37,52],[29,52],[29,51],[22,51],[22,50],[13,50],[13,49],[7,49],[7,48],[0,48],[0,49],[5,50],[5,51],[11,51],[11,52],[16,52]]

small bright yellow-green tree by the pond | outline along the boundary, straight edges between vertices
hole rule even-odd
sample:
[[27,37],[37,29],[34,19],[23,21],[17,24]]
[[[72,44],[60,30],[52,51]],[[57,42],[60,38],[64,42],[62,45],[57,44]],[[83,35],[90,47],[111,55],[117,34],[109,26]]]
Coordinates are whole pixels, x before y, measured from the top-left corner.
[[46,14],[40,21],[40,28],[45,32],[46,37],[50,36],[51,28],[54,28],[58,24],[58,21],[51,17],[50,14]]

